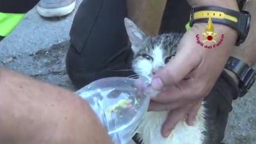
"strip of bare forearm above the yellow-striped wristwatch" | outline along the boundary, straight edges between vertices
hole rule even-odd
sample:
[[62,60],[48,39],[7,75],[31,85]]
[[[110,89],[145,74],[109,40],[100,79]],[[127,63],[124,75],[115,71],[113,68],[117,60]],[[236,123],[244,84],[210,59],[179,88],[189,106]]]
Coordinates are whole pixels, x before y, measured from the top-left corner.
[[188,0],[191,6],[221,6],[231,10],[239,11],[237,2],[234,0]]

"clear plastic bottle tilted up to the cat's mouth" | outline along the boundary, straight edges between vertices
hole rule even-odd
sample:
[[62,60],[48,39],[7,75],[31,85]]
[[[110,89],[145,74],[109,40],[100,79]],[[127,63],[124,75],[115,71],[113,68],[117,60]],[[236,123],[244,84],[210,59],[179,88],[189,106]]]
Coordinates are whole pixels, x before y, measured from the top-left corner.
[[76,93],[88,101],[115,144],[127,144],[147,112],[148,80],[108,77]]

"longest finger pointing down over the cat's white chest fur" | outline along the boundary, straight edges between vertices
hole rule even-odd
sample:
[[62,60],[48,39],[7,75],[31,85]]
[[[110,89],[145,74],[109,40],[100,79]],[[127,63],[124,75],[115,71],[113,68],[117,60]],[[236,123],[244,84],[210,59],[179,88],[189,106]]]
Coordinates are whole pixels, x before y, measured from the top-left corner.
[[177,125],[180,120],[184,120],[185,116],[186,111],[184,108],[170,111],[161,130],[164,138],[170,136],[172,130],[175,128],[175,125]]

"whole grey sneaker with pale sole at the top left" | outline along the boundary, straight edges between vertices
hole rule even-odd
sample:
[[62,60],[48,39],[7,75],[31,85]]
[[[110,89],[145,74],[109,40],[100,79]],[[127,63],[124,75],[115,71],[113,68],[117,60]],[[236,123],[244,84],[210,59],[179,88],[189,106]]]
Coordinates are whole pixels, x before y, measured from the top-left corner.
[[76,0],[41,0],[36,8],[42,17],[61,17],[71,13]]

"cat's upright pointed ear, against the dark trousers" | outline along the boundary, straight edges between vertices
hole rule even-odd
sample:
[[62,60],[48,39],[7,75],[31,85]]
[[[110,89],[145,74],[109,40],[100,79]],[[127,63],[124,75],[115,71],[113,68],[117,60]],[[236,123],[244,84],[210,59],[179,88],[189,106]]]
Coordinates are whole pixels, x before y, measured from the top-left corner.
[[134,53],[140,51],[141,45],[143,44],[147,35],[141,31],[132,20],[125,18],[124,19],[125,28],[129,36],[130,42],[132,44],[132,51]]

